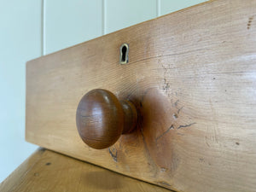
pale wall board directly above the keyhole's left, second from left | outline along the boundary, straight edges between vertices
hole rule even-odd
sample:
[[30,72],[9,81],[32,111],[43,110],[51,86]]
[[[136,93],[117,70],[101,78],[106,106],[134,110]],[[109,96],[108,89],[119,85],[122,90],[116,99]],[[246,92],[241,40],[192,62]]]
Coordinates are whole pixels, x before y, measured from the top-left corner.
[[102,0],[44,1],[44,54],[102,36]]

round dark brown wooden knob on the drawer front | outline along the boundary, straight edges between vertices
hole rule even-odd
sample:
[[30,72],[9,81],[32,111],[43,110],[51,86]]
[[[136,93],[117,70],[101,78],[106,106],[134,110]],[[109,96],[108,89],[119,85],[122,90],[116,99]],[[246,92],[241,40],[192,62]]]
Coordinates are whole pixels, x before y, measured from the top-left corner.
[[79,102],[76,121],[84,143],[108,148],[137,126],[137,110],[129,101],[119,102],[108,90],[90,90]]

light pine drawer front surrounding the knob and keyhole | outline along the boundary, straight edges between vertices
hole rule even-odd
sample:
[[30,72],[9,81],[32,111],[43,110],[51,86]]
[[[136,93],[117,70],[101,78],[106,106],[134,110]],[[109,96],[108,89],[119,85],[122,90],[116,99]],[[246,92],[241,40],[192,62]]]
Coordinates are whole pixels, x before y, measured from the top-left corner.
[[[102,150],[75,123],[97,88],[141,115]],[[256,1],[211,1],[29,61],[26,140],[168,189],[255,191],[255,90]]]

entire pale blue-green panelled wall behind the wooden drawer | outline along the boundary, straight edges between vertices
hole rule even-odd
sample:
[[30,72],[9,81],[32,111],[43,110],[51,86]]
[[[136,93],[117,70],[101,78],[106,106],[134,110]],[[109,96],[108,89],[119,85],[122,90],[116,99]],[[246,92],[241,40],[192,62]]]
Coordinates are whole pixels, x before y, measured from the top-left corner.
[[37,148],[25,142],[26,61],[202,0],[0,0],[0,182]]

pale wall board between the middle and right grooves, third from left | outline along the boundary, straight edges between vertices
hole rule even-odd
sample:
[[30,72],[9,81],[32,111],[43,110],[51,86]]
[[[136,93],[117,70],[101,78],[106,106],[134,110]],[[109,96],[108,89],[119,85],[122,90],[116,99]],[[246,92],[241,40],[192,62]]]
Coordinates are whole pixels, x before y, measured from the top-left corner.
[[114,32],[157,16],[156,0],[105,0],[105,32]]

